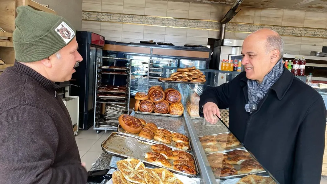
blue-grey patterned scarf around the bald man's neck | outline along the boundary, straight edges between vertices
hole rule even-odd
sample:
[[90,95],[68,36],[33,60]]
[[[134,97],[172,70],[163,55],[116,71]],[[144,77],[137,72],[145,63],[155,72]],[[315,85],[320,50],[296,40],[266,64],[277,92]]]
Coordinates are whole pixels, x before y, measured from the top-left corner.
[[256,80],[248,79],[249,104],[258,104],[266,96],[271,86],[275,84],[283,74],[283,71],[283,62],[282,59],[280,59],[272,70],[264,77],[261,84]]

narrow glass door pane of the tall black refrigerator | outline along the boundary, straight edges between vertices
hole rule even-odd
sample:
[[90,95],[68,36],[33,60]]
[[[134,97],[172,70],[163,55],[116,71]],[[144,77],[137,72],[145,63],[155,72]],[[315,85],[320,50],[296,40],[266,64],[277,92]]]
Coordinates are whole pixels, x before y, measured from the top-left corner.
[[[88,110],[93,108],[95,92],[95,47],[90,47]],[[102,54],[101,54],[102,55]]]

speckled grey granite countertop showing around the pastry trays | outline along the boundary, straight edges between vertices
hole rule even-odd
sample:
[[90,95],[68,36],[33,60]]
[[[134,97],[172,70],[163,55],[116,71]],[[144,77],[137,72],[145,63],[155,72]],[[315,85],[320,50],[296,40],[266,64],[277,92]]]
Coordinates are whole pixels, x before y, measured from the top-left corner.
[[[184,117],[165,117],[165,116],[154,116],[154,115],[145,115],[145,114],[131,114],[132,116],[142,118],[147,123],[155,123],[158,127],[169,129],[173,132],[179,132],[189,136],[186,131],[186,125]],[[191,152],[192,153],[192,152]],[[92,166],[90,171],[102,170],[102,169],[116,169],[109,166],[111,160],[111,155],[107,153],[102,153],[101,156],[96,160],[95,164]],[[94,182],[88,182],[87,184],[98,184]]]

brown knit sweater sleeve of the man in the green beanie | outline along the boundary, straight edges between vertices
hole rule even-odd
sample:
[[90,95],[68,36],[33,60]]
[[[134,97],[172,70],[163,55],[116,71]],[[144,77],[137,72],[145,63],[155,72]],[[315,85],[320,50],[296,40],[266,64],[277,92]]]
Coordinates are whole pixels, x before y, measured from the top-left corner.
[[59,138],[51,117],[18,106],[0,115],[0,183],[85,184],[80,160],[55,164]]

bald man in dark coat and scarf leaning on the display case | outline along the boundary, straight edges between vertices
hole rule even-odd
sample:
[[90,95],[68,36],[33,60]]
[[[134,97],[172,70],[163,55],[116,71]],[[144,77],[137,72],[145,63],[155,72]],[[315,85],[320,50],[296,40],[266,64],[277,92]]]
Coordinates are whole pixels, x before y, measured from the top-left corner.
[[245,72],[206,89],[199,113],[215,123],[229,108],[229,128],[281,184],[319,184],[326,107],[321,95],[282,63],[284,42],[261,29],[243,42]]

